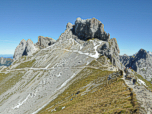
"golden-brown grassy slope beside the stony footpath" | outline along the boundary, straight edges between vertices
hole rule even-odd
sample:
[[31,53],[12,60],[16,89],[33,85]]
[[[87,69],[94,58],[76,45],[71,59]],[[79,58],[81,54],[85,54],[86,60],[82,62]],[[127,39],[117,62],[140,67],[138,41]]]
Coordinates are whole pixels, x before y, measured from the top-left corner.
[[121,78],[121,72],[85,68],[63,93],[38,113],[139,113],[136,95]]

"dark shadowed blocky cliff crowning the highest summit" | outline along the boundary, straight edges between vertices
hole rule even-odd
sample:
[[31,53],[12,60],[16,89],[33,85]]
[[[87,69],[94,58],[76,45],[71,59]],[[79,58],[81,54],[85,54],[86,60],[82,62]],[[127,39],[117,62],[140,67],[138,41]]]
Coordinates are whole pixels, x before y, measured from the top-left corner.
[[74,34],[84,40],[90,38],[98,38],[100,40],[108,41],[110,34],[104,31],[104,25],[97,19],[83,20],[77,18],[74,26]]

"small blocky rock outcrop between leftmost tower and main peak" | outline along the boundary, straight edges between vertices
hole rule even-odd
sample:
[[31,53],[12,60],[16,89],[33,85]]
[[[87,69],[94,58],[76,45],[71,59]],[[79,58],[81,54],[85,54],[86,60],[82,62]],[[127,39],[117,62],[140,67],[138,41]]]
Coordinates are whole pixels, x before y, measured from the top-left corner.
[[46,47],[54,44],[55,42],[56,42],[56,40],[54,40],[52,38],[39,36],[38,42],[36,43],[36,45],[38,45],[41,49],[41,48],[46,48]]

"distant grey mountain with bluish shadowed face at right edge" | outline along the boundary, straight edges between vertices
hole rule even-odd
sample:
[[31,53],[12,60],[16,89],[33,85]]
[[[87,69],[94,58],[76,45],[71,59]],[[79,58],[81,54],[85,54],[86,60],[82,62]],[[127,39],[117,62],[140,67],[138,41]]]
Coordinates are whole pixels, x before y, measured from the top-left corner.
[[131,67],[144,79],[151,81],[152,79],[152,56],[146,50],[140,49],[133,56],[120,56],[120,61],[126,66]]

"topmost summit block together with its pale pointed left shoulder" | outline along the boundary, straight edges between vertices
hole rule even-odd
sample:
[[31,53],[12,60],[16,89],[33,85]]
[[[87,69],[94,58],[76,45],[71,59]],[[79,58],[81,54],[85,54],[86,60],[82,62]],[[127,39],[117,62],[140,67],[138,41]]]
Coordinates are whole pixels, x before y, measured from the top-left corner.
[[74,25],[70,22],[67,23],[66,31],[61,34],[58,40],[65,40],[72,37],[77,37],[83,41],[87,41],[92,38],[102,41],[110,40],[110,34],[104,31],[104,25],[96,18],[84,20],[78,17]]

